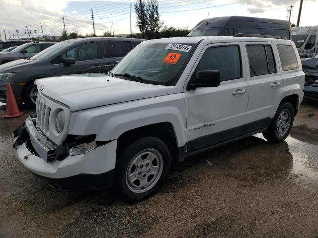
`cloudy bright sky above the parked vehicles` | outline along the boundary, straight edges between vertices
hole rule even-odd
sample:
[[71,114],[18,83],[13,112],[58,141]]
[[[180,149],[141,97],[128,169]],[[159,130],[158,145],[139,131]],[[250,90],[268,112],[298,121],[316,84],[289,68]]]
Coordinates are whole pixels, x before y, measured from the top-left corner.
[[[114,31],[130,33],[130,4],[132,3],[132,31],[136,28],[134,0],[0,0],[0,36],[4,31],[13,39],[18,29],[24,35],[26,26],[31,37],[61,35],[64,16],[66,30],[81,34],[92,33],[91,10],[93,8],[96,34]],[[164,25],[191,29],[200,20],[215,16],[255,16],[287,19],[287,8],[293,4],[291,22],[297,22],[299,0],[159,0],[160,19]],[[201,8],[201,9],[198,9]],[[318,0],[304,0],[300,26],[318,25]],[[15,36],[16,38],[16,36]]]

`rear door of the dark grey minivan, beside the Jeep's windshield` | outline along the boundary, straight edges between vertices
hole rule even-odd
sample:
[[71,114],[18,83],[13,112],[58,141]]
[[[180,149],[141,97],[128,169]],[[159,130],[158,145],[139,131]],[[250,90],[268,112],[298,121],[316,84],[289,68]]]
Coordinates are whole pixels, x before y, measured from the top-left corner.
[[107,72],[112,69],[116,61],[120,61],[132,49],[132,42],[130,41],[107,41],[105,43],[105,59],[101,65],[102,72]]

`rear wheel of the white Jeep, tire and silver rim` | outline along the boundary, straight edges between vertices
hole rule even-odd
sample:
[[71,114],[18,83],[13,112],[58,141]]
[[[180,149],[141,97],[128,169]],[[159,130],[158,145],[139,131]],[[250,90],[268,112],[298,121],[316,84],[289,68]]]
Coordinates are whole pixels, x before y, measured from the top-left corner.
[[284,141],[289,135],[294,122],[293,106],[286,102],[281,104],[276,114],[268,126],[268,129],[263,132],[263,136],[270,143],[279,143]]

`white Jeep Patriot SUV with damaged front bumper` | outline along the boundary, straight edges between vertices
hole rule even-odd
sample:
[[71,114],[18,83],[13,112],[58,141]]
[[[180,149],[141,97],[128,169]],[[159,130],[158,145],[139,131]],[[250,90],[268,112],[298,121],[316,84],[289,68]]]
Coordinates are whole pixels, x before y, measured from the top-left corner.
[[38,80],[36,116],[13,132],[14,148],[26,169],[56,188],[114,186],[138,201],[185,157],[258,132],[283,141],[304,81],[292,41],[145,41],[108,75]]

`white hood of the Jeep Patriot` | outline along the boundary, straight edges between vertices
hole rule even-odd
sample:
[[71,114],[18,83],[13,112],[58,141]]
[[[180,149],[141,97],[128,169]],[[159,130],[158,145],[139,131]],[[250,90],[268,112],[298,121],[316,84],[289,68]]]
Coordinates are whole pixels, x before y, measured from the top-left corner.
[[78,74],[38,79],[38,90],[78,111],[176,93],[176,87],[139,83],[106,76]]

